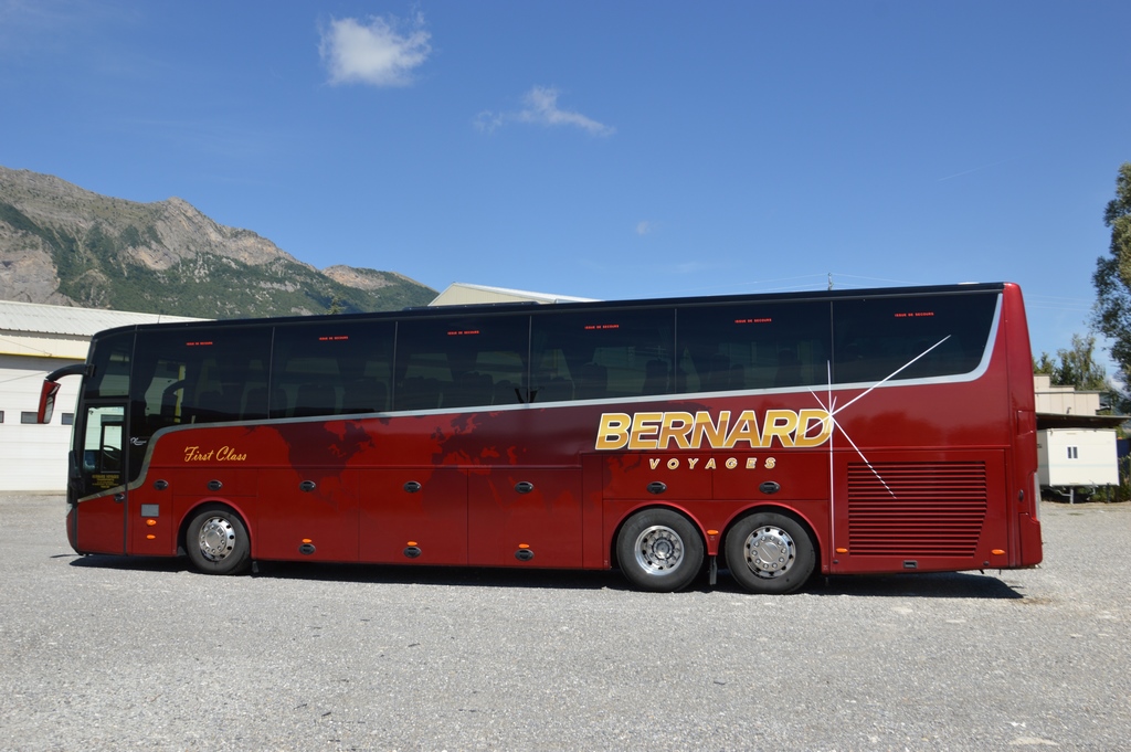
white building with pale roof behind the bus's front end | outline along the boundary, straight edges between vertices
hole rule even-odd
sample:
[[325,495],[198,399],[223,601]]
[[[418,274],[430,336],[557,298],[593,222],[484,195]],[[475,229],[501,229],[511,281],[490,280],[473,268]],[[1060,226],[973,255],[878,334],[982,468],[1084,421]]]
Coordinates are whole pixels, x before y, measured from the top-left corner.
[[61,493],[78,398],[77,378],[63,379],[50,425],[35,412],[43,377],[81,363],[90,337],[103,329],[183,317],[0,301],[0,491]]

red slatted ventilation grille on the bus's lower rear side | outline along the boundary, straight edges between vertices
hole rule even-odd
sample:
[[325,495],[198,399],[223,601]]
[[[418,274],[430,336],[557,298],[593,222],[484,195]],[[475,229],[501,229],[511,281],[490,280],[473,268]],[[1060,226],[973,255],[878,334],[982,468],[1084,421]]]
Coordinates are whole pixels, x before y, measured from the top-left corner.
[[973,556],[985,515],[985,463],[848,465],[854,555]]

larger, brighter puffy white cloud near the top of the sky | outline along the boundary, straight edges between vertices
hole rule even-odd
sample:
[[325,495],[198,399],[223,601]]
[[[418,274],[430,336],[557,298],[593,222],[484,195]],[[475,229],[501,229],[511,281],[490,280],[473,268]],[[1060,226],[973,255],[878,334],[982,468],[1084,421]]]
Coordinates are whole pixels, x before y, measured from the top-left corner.
[[402,33],[397,19],[371,17],[369,25],[355,18],[333,19],[322,31],[318,51],[329,69],[330,84],[406,86],[412,71],[432,52],[432,35],[417,15]]

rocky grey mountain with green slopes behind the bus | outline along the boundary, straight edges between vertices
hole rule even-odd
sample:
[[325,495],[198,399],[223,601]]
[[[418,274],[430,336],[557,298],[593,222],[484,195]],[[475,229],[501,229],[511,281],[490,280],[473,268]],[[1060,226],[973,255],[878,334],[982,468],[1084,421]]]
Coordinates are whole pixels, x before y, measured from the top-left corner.
[[395,271],[319,271],[179,198],[139,204],[0,167],[0,300],[233,319],[425,305]]

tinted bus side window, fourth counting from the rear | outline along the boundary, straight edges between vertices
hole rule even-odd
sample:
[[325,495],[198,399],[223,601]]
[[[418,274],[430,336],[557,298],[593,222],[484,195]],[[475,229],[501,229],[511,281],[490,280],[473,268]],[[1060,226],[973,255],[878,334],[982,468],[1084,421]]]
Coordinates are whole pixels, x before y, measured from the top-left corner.
[[528,342],[525,314],[402,321],[394,409],[518,404]]

